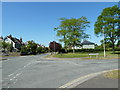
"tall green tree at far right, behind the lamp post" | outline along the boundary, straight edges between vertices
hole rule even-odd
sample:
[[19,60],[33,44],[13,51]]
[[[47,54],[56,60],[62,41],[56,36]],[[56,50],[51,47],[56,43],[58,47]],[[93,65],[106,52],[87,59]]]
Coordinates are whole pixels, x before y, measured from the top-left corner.
[[94,32],[97,36],[102,36],[104,34],[105,38],[109,38],[112,43],[113,53],[115,42],[118,40],[120,35],[119,15],[120,9],[116,5],[105,8],[94,24]]

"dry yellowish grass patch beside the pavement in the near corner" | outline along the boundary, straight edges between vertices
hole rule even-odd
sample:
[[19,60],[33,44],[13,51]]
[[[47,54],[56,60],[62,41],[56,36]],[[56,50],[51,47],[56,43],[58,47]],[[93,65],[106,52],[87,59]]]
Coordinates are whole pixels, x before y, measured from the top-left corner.
[[120,79],[120,70],[113,70],[113,71],[104,73],[103,76],[109,79]]

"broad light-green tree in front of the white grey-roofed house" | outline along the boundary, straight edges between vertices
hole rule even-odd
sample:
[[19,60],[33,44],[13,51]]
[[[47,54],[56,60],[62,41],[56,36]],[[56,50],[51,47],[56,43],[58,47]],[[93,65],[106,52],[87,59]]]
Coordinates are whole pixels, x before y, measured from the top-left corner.
[[89,27],[89,21],[86,17],[81,18],[60,18],[61,24],[54,28],[57,31],[57,36],[64,42],[64,46],[72,46],[73,53],[75,52],[75,46],[80,45],[81,39],[88,38],[88,35],[84,33],[86,27]]

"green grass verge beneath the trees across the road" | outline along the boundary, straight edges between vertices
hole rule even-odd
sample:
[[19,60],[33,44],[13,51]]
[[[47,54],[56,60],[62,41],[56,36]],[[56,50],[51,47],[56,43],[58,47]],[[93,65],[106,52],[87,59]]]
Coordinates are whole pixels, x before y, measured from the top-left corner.
[[[118,53],[118,52],[116,52]],[[52,57],[57,57],[57,58],[85,58],[85,59],[104,59],[104,53],[99,52],[99,55],[96,56],[89,56],[88,52],[77,52],[77,53],[66,53],[66,54],[56,54],[52,55]],[[106,57],[105,58],[118,58],[118,54],[112,54],[112,51],[107,51],[106,52]]]

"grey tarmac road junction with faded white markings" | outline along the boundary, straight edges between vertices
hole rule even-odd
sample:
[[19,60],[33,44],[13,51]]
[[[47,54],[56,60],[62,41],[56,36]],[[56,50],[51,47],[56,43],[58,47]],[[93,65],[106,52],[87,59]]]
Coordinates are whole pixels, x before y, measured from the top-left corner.
[[3,88],[58,88],[78,77],[118,68],[118,60],[47,60],[46,54],[2,61]]

